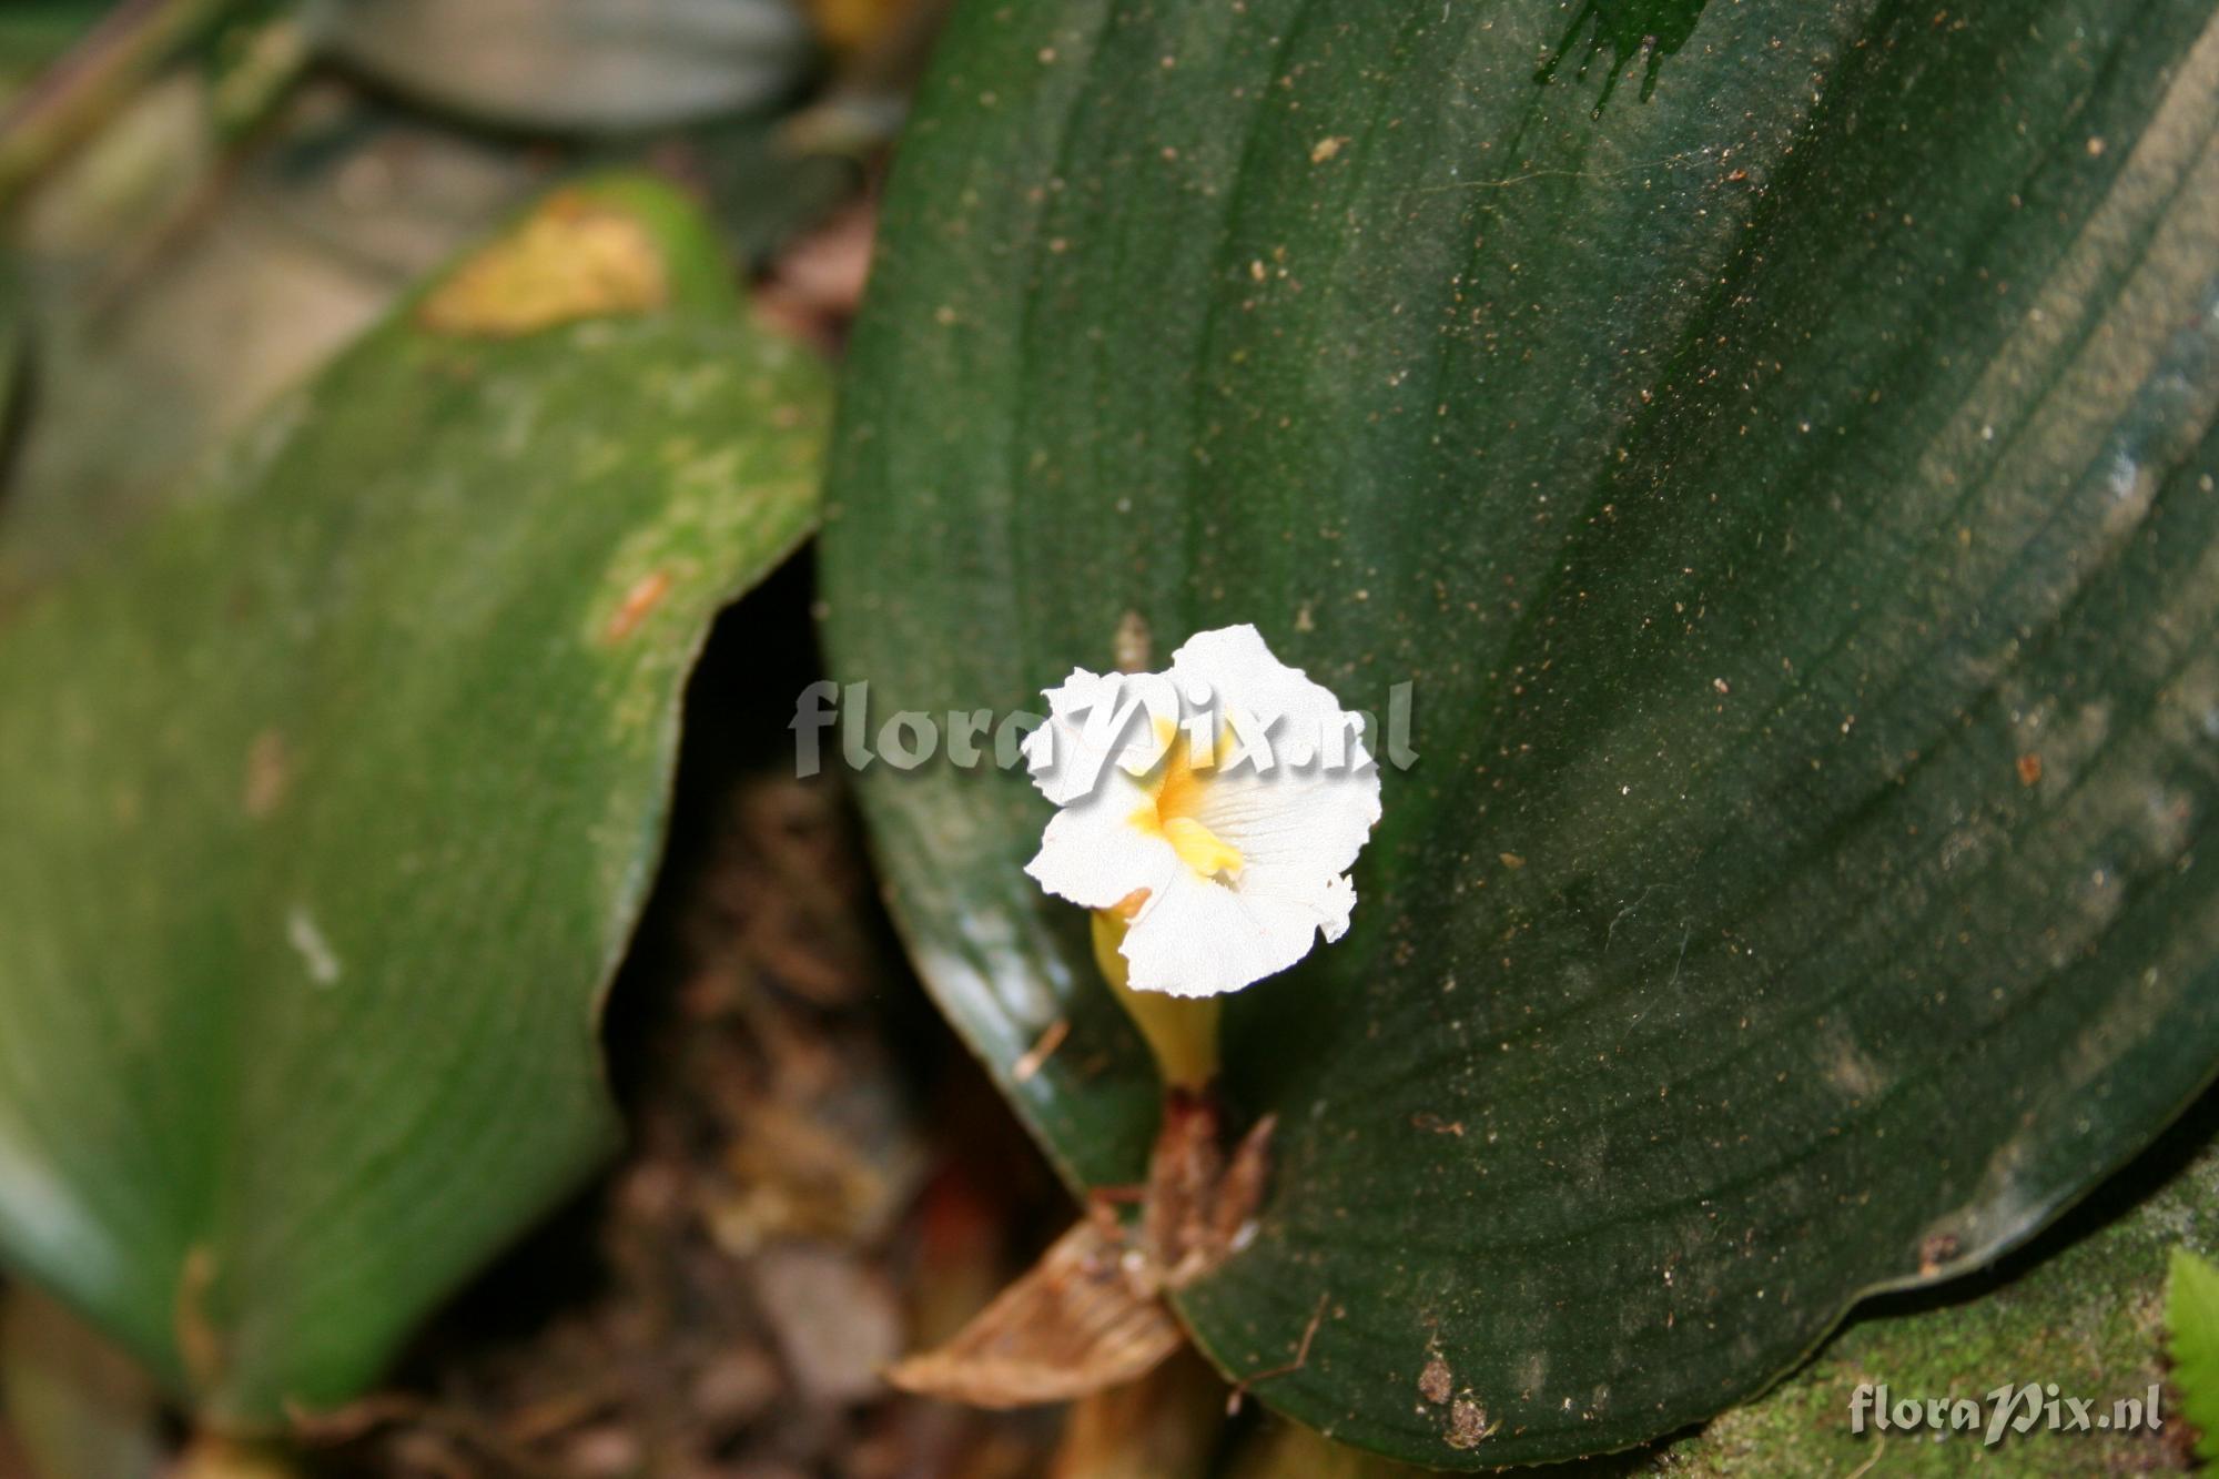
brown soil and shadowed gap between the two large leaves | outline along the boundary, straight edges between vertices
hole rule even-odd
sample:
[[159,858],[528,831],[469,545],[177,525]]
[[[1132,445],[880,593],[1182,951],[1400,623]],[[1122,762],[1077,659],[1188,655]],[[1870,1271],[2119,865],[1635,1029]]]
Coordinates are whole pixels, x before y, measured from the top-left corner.
[[808,562],[717,626],[608,1006],[624,1157],[324,1428],[342,1475],[1038,1475],[1054,1410],[881,1368],[1074,1217],[903,964],[837,773],[794,779]]

